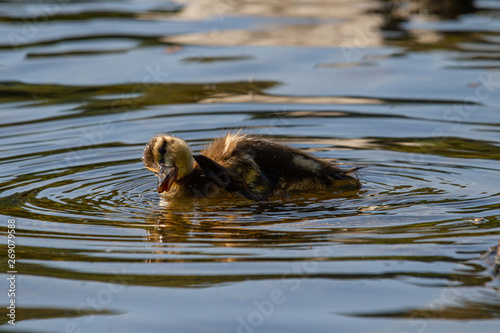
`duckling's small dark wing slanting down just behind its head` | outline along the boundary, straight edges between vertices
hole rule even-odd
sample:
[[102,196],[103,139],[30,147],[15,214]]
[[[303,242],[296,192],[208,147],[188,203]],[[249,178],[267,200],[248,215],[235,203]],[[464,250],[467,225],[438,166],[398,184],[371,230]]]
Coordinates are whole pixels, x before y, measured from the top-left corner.
[[193,158],[203,170],[203,174],[226,191],[230,193],[238,192],[245,198],[255,201],[268,199],[266,194],[252,191],[241,176],[224,168],[222,165],[205,155],[193,155]]

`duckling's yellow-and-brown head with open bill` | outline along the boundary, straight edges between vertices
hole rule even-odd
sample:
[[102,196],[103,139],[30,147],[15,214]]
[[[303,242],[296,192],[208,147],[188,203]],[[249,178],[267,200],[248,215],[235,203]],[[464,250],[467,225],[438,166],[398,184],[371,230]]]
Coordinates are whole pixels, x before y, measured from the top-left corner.
[[142,162],[158,176],[158,193],[168,192],[177,179],[193,171],[193,153],[184,140],[157,135],[149,140]]

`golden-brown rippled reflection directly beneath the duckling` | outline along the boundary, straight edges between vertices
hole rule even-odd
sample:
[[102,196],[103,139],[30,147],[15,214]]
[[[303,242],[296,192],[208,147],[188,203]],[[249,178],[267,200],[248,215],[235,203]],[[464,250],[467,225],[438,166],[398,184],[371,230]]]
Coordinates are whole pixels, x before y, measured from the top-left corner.
[[156,220],[150,221],[155,227],[148,230],[147,237],[159,245],[162,253],[188,242],[209,243],[213,247],[309,242],[308,226],[334,223],[334,218],[358,214],[357,199],[362,197],[362,192],[359,186],[353,185],[350,190],[337,193],[291,193],[288,198],[259,203],[230,196],[164,199],[160,202],[163,210]]

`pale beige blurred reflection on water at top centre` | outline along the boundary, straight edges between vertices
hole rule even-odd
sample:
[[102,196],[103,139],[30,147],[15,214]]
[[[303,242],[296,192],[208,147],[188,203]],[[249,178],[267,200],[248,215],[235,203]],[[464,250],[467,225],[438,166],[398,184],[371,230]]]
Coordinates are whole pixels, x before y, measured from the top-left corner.
[[256,17],[256,23],[251,29],[226,29],[223,25],[222,29],[208,32],[167,36],[163,41],[203,45],[377,46],[382,44],[378,32],[382,18],[369,10],[378,7],[378,1],[357,1],[355,5],[343,1],[220,1],[216,5],[208,0],[193,1],[179,19],[218,16],[224,21],[248,16]]

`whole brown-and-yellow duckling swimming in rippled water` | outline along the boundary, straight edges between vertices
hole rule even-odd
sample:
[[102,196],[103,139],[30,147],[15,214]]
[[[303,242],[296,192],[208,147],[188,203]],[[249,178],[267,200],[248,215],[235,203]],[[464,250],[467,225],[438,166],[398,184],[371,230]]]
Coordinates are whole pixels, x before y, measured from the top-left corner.
[[158,176],[157,191],[172,197],[215,197],[239,193],[255,201],[287,191],[322,190],[359,184],[353,174],[310,154],[240,133],[216,139],[201,154],[170,135],[151,138],[142,157]]

